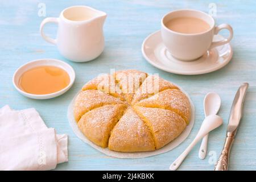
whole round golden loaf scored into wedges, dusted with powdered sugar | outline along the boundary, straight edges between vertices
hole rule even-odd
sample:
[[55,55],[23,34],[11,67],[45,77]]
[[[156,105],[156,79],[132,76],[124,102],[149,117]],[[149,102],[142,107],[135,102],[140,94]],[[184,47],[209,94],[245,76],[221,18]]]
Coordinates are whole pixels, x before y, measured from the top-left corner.
[[87,82],[73,109],[90,141],[120,152],[158,150],[178,137],[191,119],[190,102],[177,86],[137,70]]

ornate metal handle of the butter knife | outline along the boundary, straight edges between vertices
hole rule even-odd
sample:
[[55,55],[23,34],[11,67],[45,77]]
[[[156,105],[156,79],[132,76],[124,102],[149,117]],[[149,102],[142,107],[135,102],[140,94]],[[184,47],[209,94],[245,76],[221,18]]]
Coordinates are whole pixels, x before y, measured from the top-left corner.
[[234,140],[234,136],[227,136],[220,158],[215,165],[214,171],[228,171],[229,153]]

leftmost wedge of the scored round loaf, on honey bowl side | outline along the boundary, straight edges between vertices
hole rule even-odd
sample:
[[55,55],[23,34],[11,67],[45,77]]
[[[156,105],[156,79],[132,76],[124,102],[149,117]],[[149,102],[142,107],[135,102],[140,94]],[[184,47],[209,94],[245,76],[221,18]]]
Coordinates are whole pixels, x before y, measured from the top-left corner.
[[74,105],[74,115],[76,122],[88,111],[97,107],[109,104],[125,104],[125,102],[103,93],[100,90],[85,90],[78,94]]

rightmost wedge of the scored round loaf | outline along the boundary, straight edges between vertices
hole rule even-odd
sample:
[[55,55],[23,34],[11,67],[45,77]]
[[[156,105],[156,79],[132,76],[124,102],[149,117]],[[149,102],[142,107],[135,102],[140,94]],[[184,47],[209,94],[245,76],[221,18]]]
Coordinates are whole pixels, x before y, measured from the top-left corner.
[[179,114],[187,123],[191,119],[191,106],[187,96],[177,89],[167,89],[150,98],[139,101],[136,106],[158,107],[160,109],[172,110]]

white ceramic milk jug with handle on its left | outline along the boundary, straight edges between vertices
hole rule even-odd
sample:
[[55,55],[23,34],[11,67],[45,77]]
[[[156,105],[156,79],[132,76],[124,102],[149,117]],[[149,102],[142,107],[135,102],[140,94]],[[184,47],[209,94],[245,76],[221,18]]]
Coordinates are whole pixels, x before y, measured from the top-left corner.
[[[76,62],[90,61],[104,49],[103,24],[106,13],[88,6],[72,6],[63,10],[59,18],[46,18],[40,25],[42,37],[57,45],[61,55]],[[56,39],[43,32],[46,23],[57,23]]]

